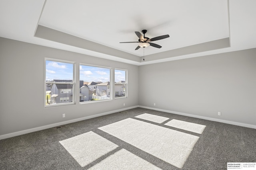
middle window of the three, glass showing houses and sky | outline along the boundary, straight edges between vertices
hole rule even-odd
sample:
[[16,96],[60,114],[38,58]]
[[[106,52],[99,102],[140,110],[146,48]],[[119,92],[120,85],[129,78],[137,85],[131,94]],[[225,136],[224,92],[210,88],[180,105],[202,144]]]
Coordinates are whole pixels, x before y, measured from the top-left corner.
[[80,102],[111,99],[110,68],[80,64],[80,81],[90,82],[82,86],[81,94],[87,96]]

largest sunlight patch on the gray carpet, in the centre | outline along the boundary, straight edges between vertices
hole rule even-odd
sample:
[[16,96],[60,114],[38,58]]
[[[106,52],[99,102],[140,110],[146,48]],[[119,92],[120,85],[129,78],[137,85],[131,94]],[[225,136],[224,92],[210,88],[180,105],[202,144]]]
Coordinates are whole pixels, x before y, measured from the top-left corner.
[[98,129],[182,168],[199,137],[128,118]]

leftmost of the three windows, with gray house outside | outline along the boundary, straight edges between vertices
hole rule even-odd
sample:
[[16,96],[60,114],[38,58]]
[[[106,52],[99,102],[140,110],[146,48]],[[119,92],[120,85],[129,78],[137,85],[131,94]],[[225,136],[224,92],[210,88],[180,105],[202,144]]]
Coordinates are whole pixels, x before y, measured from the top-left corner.
[[74,104],[74,78],[74,62],[45,59],[45,106]]

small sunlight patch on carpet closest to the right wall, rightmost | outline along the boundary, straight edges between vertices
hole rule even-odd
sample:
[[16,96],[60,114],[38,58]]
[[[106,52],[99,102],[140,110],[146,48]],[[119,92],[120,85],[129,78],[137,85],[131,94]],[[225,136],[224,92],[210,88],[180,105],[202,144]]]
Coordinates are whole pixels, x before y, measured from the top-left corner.
[[204,128],[206,127],[205,125],[200,125],[197,123],[190,123],[187,121],[181,121],[181,120],[176,120],[176,119],[172,119],[171,121],[168,121],[164,125],[176,127],[179,129],[183,129],[186,131],[199,133],[199,134],[202,134],[204,131]]

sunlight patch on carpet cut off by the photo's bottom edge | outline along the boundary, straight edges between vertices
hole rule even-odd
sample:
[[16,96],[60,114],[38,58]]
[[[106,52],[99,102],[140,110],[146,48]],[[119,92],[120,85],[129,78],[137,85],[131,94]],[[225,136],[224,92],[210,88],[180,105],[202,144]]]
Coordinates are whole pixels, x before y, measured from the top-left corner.
[[121,149],[108,156],[89,170],[161,170],[150,162],[136,156],[128,150]]

